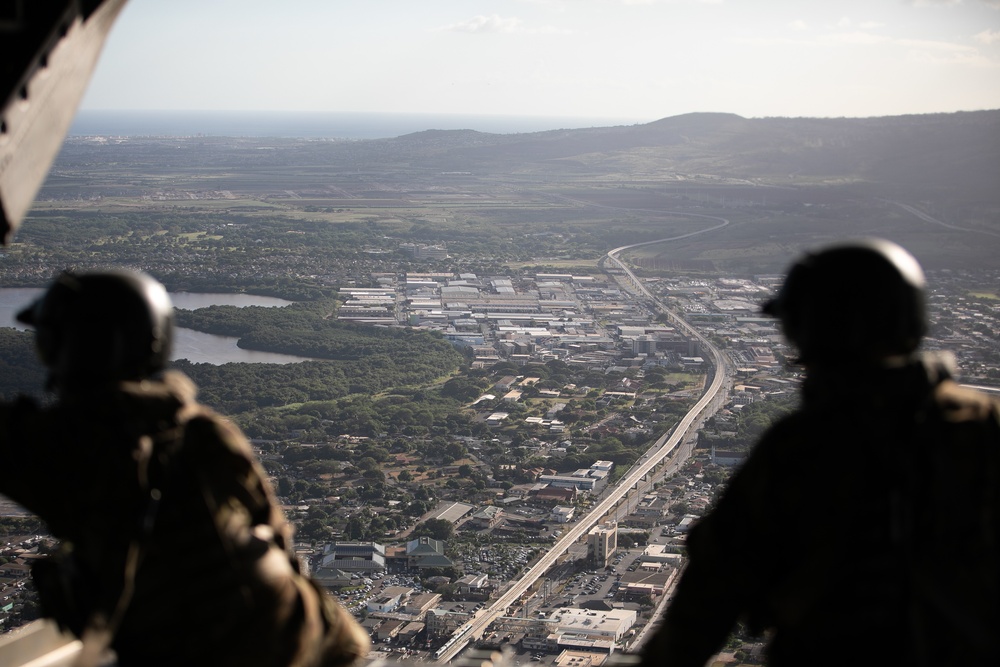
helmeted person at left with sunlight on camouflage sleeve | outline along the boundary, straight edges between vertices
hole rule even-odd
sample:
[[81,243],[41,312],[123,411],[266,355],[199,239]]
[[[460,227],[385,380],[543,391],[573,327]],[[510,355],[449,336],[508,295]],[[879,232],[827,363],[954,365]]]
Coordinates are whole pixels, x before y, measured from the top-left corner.
[[57,400],[0,405],[0,492],[62,541],[33,571],[46,615],[123,667],[319,667],[367,652],[300,571],[249,443],[164,370],[162,285],[66,273],[20,319]]

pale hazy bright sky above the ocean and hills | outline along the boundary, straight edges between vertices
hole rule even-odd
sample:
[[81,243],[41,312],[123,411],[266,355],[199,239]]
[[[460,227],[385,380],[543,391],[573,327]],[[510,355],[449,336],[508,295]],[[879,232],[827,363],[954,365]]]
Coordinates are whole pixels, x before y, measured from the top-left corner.
[[129,0],[81,108],[997,109],[1000,0]]

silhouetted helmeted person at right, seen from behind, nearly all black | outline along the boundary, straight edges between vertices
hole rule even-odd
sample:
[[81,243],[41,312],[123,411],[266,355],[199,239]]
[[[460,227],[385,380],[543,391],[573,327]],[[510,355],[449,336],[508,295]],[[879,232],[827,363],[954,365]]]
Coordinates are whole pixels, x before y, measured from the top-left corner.
[[700,666],[738,621],[786,665],[996,662],[998,405],[917,352],[924,277],[867,239],[796,262],[765,311],[806,369],[688,537],[647,667]]

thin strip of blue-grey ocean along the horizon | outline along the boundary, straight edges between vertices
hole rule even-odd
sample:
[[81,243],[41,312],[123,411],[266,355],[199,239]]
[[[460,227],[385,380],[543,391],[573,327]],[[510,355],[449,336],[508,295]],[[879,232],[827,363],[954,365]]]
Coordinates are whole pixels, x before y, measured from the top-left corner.
[[[654,119],[649,119],[654,120]],[[610,127],[636,119],[309,111],[98,111],[77,113],[70,136],[227,136],[383,139],[423,130],[517,134]]]

